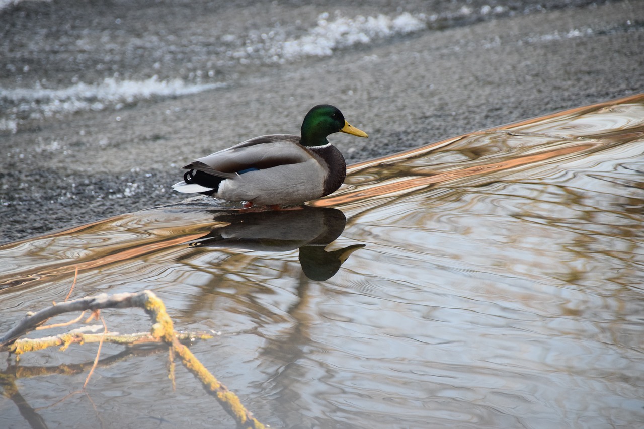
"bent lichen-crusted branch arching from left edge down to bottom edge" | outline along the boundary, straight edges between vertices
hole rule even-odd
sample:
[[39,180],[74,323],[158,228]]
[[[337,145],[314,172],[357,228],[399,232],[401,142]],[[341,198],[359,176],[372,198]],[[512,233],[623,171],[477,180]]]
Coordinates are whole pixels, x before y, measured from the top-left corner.
[[[242,405],[239,397],[220,383],[194,356],[189,348],[179,342],[172,320],[167,315],[166,305],[151,291],[120,293],[111,296],[108,294],[100,294],[55,304],[39,312],[27,314],[13,329],[0,337],[0,350],[7,349],[19,337],[42,325],[53,316],[71,311],[124,309],[128,307],[140,307],[146,311],[147,315],[153,321],[151,335],[154,338],[164,341],[164,343],[167,343],[167,345],[170,345],[175,350],[175,353],[181,357],[184,366],[202,382],[202,385],[204,385],[210,394],[216,397],[223,409],[235,419],[239,427],[245,429],[265,429],[265,426],[252,417],[251,412]],[[102,337],[103,334],[99,334],[99,336]]]

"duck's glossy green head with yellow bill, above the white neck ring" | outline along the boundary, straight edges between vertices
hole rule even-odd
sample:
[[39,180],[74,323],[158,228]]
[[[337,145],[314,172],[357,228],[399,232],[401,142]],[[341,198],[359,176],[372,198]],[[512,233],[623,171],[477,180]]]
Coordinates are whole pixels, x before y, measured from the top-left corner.
[[302,122],[303,146],[323,146],[328,144],[327,136],[337,132],[368,137],[361,131],[346,122],[342,112],[330,104],[319,104],[308,111]]

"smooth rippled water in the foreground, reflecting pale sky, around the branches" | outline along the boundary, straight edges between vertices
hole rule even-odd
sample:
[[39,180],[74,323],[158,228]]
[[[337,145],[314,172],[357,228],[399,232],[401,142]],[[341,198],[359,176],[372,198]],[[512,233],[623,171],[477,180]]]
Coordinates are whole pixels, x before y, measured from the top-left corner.
[[[220,332],[191,350],[274,428],[637,427],[643,143],[638,95],[358,164],[305,210],[194,198],[8,243],[0,332],[78,267],[72,298],[151,289]],[[163,348],[107,345],[61,401],[95,352],[9,365],[0,426],[234,426],[183,368],[173,392]]]

